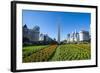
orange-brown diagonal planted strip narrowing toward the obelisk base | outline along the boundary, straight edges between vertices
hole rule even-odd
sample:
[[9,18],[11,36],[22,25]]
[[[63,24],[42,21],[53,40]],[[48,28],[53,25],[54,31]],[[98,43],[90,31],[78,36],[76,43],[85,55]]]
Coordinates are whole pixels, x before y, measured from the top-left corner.
[[57,45],[50,45],[36,53],[31,54],[28,57],[23,58],[23,62],[41,62],[48,61],[50,56],[55,51]]

